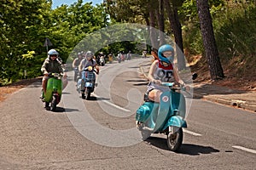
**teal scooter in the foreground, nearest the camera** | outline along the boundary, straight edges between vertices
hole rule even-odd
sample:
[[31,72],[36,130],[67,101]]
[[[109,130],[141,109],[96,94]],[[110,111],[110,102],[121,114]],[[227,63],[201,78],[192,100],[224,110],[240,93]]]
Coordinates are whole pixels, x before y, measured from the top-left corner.
[[[193,80],[197,74],[193,76]],[[185,90],[173,82],[162,82],[170,90],[160,95],[160,103],[148,100],[141,105],[136,113],[137,127],[141,131],[143,140],[151,133],[165,133],[169,150],[177,151],[183,142],[183,127],[187,127],[186,102],[180,90]],[[175,86],[174,86],[175,85]]]

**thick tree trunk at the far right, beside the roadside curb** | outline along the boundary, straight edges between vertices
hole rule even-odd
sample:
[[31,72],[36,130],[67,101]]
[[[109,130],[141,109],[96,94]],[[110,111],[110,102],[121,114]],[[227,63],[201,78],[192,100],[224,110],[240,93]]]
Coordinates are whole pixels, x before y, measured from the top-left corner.
[[208,1],[196,0],[196,5],[201,26],[201,36],[203,39],[211,78],[212,80],[223,78],[224,71],[218,56],[218,48],[214,37],[212,17],[210,14]]

